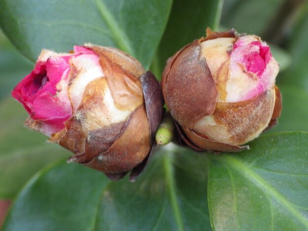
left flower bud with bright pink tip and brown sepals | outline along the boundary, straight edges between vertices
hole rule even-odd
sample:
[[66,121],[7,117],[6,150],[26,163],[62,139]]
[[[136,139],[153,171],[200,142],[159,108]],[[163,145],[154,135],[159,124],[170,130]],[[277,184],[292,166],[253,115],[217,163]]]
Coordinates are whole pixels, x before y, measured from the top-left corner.
[[27,127],[75,153],[68,162],[112,179],[144,168],[162,116],[154,75],[118,49],[91,44],[43,50],[12,95],[30,115]]

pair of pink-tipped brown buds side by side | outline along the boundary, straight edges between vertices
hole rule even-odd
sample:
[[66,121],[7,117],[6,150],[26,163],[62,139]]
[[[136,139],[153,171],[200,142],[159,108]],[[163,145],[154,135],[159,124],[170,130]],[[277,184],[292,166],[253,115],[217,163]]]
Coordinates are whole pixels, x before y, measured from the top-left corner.
[[12,91],[25,124],[77,162],[120,179],[146,166],[163,98],[180,142],[198,151],[241,151],[274,126],[281,111],[279,65],[269,46],[234,30],[195,40],[167,62],[161,87],[122,51],[87,44],[68,54],[43,50]]

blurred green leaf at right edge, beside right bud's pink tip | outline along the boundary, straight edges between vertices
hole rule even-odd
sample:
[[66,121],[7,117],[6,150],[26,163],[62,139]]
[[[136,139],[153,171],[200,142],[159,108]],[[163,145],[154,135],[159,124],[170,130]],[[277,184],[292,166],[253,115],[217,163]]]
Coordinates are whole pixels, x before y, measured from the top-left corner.
[[[306,13],[307,14],[307,13]],[[308,92],[308,16],[294,29],[289,51],[292,63],[278,83],[295,86]]]

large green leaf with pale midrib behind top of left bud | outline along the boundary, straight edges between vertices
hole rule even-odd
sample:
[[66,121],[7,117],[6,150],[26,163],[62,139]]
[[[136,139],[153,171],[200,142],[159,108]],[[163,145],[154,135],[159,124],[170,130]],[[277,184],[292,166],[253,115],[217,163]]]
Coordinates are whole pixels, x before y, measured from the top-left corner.
[[93,43],[117,47],[148,68],[172,0],[1,0],[0,26],[22,54],[66,52]]

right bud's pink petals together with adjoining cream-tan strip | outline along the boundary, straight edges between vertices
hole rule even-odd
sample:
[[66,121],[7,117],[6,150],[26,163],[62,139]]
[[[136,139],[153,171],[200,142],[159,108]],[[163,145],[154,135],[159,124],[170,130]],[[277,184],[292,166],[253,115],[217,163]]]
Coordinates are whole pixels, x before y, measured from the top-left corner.
[[218,102],[243,102],[275,85],[279,65],[259,37],[219,37],[200,45],[218,89]]

